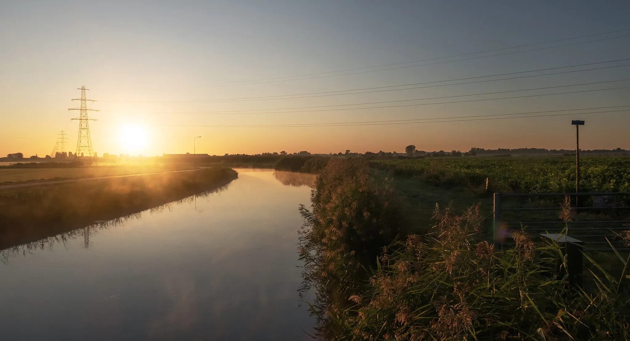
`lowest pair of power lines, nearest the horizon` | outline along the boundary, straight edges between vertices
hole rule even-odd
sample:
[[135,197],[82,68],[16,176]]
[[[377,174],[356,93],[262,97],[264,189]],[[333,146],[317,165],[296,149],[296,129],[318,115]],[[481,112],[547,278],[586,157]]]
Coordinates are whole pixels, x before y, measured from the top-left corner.
[[[630,105],[621,105],[617,107],[601,107],[601,108],[619,108],[619,107],[630,107]],[[584,110],[584,109],[568,109],[568,110],[549,110],[546,112],[566,112],[573,110]],[[493,115],[474,115],[474,116],[462,116],[462,118],[466,117],[476,117],[476,118],[466,118],[461,120],[453,120],[452,118],[459,117],[435,117],[435,118],[416,118],[411,120],[390,120],[390,121],[363,121],[363,122],[341,122],[341,123],[330,123],[330,124],[278,124],[278,125],[185,125],[185,124],[156,124],[158,126],[167,126],[167,127],[214,127],[214,128],[258,128],[258,127],[269,127],[269,128],[278,128],[278,127],[352,127],[357,125],[391,125],[391,124],[418,124],[418,123],[445,123],[445,122],[466,122],[466,121],[479,121],[479,120],[502,120],[507,118],[530,118],[530,117],[554,117],[554,116],[565,116],[565,115],[583,115],[583,114],[592,114],[592,113],[614,113],[614,112],[627,112],[630,109],[624,110],[606,110],[600,112],[572,112],[572,113],[556,113],[550,115],[529,115],[529,116],[513,116],[513,117],[494,117],[494,116],[505,116],[505,115],[524,115],[527,113],[499,113]],[[546,113],[546,112],[530,112],[530,113]],[[490,117],[490,118],[487,118]],[[416,122],[401,122],[401,121],[416,121]],[[420,121],[420,122],[418,122]],[[424,122],[422,122],[424,121]]]

